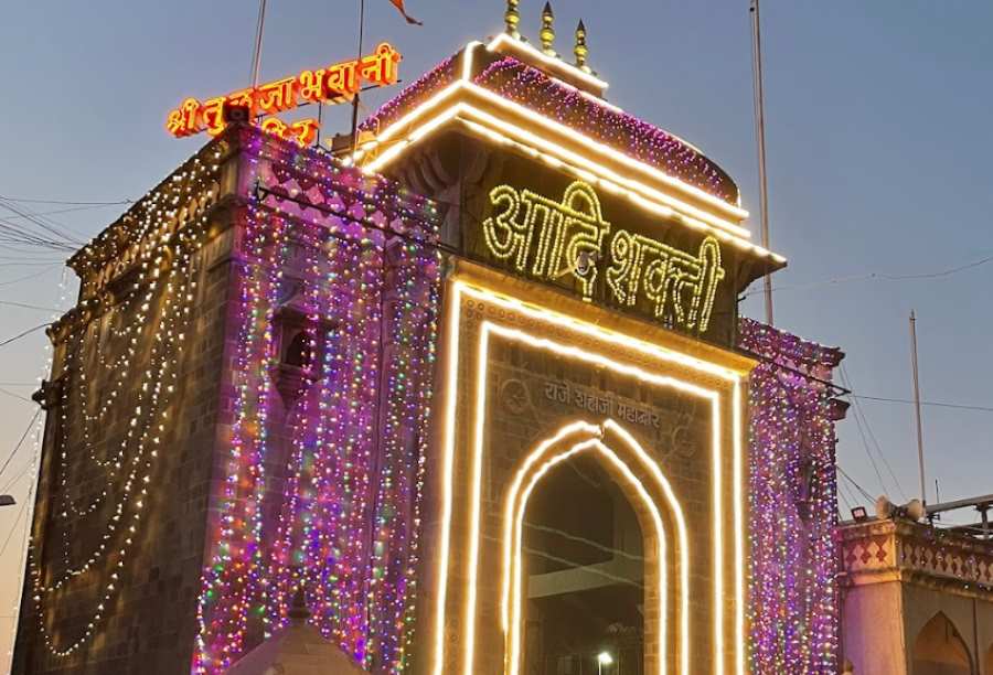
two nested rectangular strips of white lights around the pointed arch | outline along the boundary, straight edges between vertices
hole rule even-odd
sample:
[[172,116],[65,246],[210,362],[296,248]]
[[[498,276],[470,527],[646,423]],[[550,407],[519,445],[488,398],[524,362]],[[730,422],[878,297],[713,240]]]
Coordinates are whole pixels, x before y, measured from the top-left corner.
[[[441,502],[441,542],[438,550],[438,586],[436,593],[436,604],[435,604],[435,629],[434,629],[434,662],[431,665],[431,672],[436,675],[441,675],[445,673],[445,663],[446,663],[446,651],[447,644],[445,639],[445,625],[446,625],[446,613],[447,613],[447,603],[448,603],[448,590],[449,590],[449,574],[448,574],[448,559],[451,555],[451,518],[453,512],[453,503],[452,503],[452,485],[453,485],[453,456],[455,456],[455,437],[456,437],[456,396],[455,392],[459,389],[459,368],[457,364],[460,360],[460,340],[461,340],[461,321],[462,321],[462,297],[470,297],[477,300],[482,301],[483,303],[492,303],[496,307],[503,308],[504,310],[511,310],[513,313],[520,313],[528,317],[530,319],[535,320],[537,323],[546,323],[549,325],[554,325],[560,329],[566,329],[570,332],[576,332],[578,334],[584,334],[590,338],[596,338],[599,341],[606,341],[607,343],[623,346],[624,349],[631,349],[634,352],[639,352],[643,355],[650,356],[653,360],[661,360],[664,362],[670,362],[673,364],[679,364],[684,367],[690,367],[697,373],[705,373],[709,376],[716,376],[719,381],[723,381],[726,386],[726,394],[732,396],[732,406],[739,407],[741,405],[740,397],[738,395],[739,387],[741,386],[741,378],[745,376],[747,369],[738,371],[734,368],[723,367],[720,365],[690,356],[687,354],[683,354],[680,352],[675,352],[669,349],[663,349],[655,344],[649,344],[642,342],[636,338],[631,338],[624,335],[622,333],[617,333],[613,331],[605,330],[600,326],[586,323],[584,321],[574,319],[572,317],[558,314],[557,312],[546,310],[544,308],[538,308],[535,306],[530,306],[520,300],[515,300],[508,296],[503,296],[496,291],[490,290],[484,286],[480,286],[473,283],[471,281],[460,280],[459,277],[451,285],[451,293],[450,293],[450,304],[449,304],[449,314],[447,320],[449,321],[449,334],[448,334],[448,355],[447,355],[447,388],[448,396],[447,403],[445,406],[445,417],[444,417],[444,463],[442,463],[442,502]],[[670,376],[664,375],[653,375],[643,371],[641,367],[633,365],[626,365],[619,362],[616,362],[612,358],[605,357],[602,355],[597,355],[595,353],[587,352],[586,350],[577,346],[564,345],[559,344],[555,341],[536,336],[531,334],[530,332],[524,332],[522,330],[505,328],[503,325],[499,325],[493,323],[492,321],[482,321],[480,328],[480,338],[479,343],[477,345],[478,353],[476,354],[477,365],[474,373],[476,381],[476,403],[473,404],[473,409],[476,413],[471,418],[472,421],[470,424],[470,428],[474,429],[471,431],[472,440],[472,469],[470,471],[470,500],[469,504],[470,508],[470,533],[469,533],[469,545],[470,550],[468,555],[468,559],[466,562],[465,578],[466,586],[462,589],[462,592],[466,596],[466,606],[462,610],[462,624],[466,628],[466,652],[462,655],[462,665],[461,671],[467,674],[472,673],[472,668],[474,666],[474,661],[472,656],[472,644],[474,642],[474,632],[476,632],[476,572],[478,568],[478,550],[479,550],[479,521],[480,521],[480,480],[481,480],[481,452],[482,452],[482,415],[481,410],[485,404],[485,374],[487,374],[487,360],[483,355],[487,353],[487,343],[489,341],[489,334],[499,334],[504,339],[515,340],[528,344],[531,346],[551,350],[557,354],[560,354],[568,358],[587,361],[589,363],[596,363],[598,365],[608,367],[613,369],[620,374],[624,374],[628,376],[634,376],[639,378],[644,378],[645,381],[653,382],[654,384],[664,384],[665,386],[673,386],[676,388],[681,388],[691,395],[702,396],[712,401],[713,415],[712,415],[712,461],[714,467],[714,546],[715,546],[715,560],[714,560],[714,663],[715,663],[715,673],[719,675],[726,675],[727,672],[734,672],[739,675],[743,675],[745,672],[745,650],[744,649],[735,649],[735,657],[734,663],[728,664],[730,666],[730,671],[725,668],[724,664],[724,654],[725,654],[725,643],[724,643],[724,585],[723,578],[725,576],[725,568],[722,567],[722,556],[720,553],[723,544],[722,544],[722,522],[720,518],[725,513],[722,501],[723,501],[723,490],[724,480],[722,479],[720,472],[720,462],[724,461],[724,454],[722,448],[725,444],[729,446],[732,452],[736,456],[732,460],[733,467],[733,478],[732,482],[736,483],[734,488],[730,490],[733,494],[733,499],[735,501],[733,511],[740,511],[743,507],[741,497],[743,492],[740,490],[741,476],[741,461],[740,458],[737,457],[740,454],[743,450],[743,443],[740,439],[741,429],[738,426],[740,424],[741,417],[738,411],[733,414],[730,426],[733,427],[730,430],[730,439],[722,440],[724,438],[723,432],[723,424],[722,422],[722,413],[719,405],[720,394],[718,389],[711,389],[707,387],[701,387],[688,382],[683,382]],[[606,422],[605,422],[606,424]],[[624,442],[632,442],[637,444],[637,441],[630,433],[627,433],[616,422],[611,426],[611,430],[617,431],[618,436],[624,439]],[[729,441],[729,442],[728,442]],[[661,473],[656,475],[656,479],[661,478]],[[661,479],[664,481],[664,479]],[[736,524],[741,523],[739,515],[735,516]],[[505,527],[505,524],[504,524]],[[682,526],[685,528],[685,524]],[[685,529],[683,531],[685,533]],[[735,609],[734,609],[734,629],[735,629],[735,645],[744,645],[744,604],[740,600],[744,598],[744,572],[740,568],[745,564],[744,558],[744,533],[741,529],[737,529],[734,534],[734,545],[733,545],[733,554],[734,554],[734,572],[730,575],[730,582],[735,586],[734,589],[734,598],[736,599]],[[506,591],[504,591],[506,592]],[[687,621],[688,610],[683,613],[683,620]],[[501,613],[501,625],[506,626],[510,621],[510,617]],[[688,632],[688,626],[686,631]],[[686,650],[688,650],[688,642],[685,643]],[[688,672],[690,667],[690,654],[688,651],[681,650],[680,654],[680,667],[683,672]]]

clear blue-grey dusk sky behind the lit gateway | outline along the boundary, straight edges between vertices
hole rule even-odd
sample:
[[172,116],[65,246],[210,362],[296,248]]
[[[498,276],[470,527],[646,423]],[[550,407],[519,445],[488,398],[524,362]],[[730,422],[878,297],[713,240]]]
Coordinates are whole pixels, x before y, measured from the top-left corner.
[[[533,40],[542,4],[521,2],[522,32]],[[555,11],[558,50],[570,53],[583,18],[609,99],[734,176],[758,237],[748,4],[559,0]],[[366,44],[396,45],[407,82],[503,25],[500,0],[407,0],[423,28],[388,0],[366,9]],[[249,84],[256,12],[254,0],[7,3],[0,197],[140,197],[206,140],[169,136],[168,110],[185,96]],[[925,406],[928,499],[935,479],[942,501],[993,493],[993,261],[972,265],[993,260],[993,3],[765,0],[762,20],[771,247],[789,259],[773,279],[776,324],[844,350],[856,395],[907,399],[907,317],[916,309],[923,400],[984,408]],[[356,29],[357,1],[269,0],[261,77],[354,56]],[[325,115],[324,132],[346,130],[345,113]],[[51,214],[79,240],[126,208],[13,205],[85,207]],[[13,215],[0,206],[6,224],[21,222]],[[75,285],[61,290],[60,262],[0,245],[0,342],[51,320],[51,311],[11,302],[70,306]],[[751,290],[743,311],[761,319],[760,283]],[[0,346],[0,465],[38,409],[25,399],[44,368],[45,340],[36,331]],[[912,406],[871,398],[840,425],[839,463],[873,497],[903,502],[919,492]],[[29,433],[0,474],[0,493],[19,502],[0,507],[0,655],[15,613],[31,441]],[[842,497],[846,515],[856,497],[871,505],[848,483]]]

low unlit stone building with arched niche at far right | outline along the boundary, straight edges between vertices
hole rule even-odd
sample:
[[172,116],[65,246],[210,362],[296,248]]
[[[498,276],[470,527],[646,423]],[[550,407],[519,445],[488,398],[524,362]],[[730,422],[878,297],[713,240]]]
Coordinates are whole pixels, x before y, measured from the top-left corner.
[[901,515],[841,526],[847,673],[993,675],[991,504],[974,527]]

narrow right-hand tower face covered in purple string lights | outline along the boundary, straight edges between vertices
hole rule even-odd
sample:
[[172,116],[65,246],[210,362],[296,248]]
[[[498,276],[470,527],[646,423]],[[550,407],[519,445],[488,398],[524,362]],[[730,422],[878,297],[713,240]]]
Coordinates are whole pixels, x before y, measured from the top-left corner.
[[750,671],[834,673],[840,404],[825,382],[844,354],[749,319],[738,342],[762,357],[748,390]]

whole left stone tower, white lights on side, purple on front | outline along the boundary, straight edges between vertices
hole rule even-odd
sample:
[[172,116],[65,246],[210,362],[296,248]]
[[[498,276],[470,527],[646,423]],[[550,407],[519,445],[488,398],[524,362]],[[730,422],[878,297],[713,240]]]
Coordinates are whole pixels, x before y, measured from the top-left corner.
[[215,672],[302,566],[325,635],[402,657],[435,229],[389,181],[231,128],[70,260],[15,673]]

